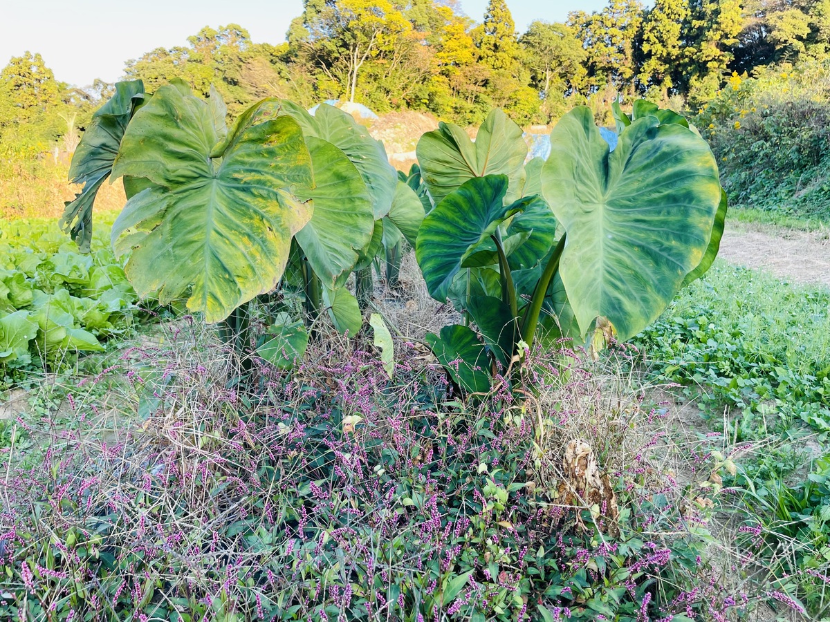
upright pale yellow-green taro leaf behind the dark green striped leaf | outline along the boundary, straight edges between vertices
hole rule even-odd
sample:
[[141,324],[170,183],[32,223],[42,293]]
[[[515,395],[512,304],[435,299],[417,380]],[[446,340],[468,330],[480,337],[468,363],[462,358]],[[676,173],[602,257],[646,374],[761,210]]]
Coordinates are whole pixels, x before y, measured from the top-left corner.
[[501,110],[487,116],[475,143],[457,125],[441,123],[421,137],[416,153],[422,179],[436,205],[467,180],[485,175],[508,177],[508,202],[521,197],[527,143],[521,128]]

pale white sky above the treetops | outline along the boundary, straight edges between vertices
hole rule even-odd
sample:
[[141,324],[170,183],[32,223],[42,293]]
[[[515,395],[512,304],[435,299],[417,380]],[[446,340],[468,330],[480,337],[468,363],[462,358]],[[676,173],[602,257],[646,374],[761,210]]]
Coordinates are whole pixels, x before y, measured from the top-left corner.
[[[507,0],[520,32],[535,19],[561,22],[607,0]],[[487,0],[461,0],[478,22]],[[302,0],[0,0],[0,68],[24,51],[40,52],[57,80],[85,86],[118,80],[124,63],[156,47],[187,46],[205,26],[237,23],[257,43],[285,41]]]

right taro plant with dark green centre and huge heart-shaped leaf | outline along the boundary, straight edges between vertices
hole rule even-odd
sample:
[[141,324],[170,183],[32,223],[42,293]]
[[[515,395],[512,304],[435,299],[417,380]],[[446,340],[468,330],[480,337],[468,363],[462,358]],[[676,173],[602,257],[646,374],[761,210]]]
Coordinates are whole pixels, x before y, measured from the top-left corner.
[[546,162],[524,163],[521,129],[500,111],[475,143],[451,124],[422,137],[437,205],[416,257],[430,294],[466,318],[427,342],[458,386],[486,391],[539,338],[632,338],[708,270],[726,210],[715,158],[685,119],[647,112],[611,148],[576,108]]

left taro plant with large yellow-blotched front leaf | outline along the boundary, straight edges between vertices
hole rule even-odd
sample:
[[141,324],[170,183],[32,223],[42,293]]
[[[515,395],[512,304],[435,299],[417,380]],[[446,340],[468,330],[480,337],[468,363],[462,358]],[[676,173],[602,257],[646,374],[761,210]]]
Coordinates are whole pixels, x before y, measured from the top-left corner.
[[[205,101],[179,80],[154,95],[140,80],[120,83],[73,158],[71,177],[85,187],[63,226],[88,244],[95,192],[123,177],[128,202],[112,242],[129,256],[139,295],[187,298],[247,354],[247,304],[274,290],[291,260],[313,317],[325,309],[335,327],[356,333],[361,313],[345,281],[379,237],[398,183],[383,144],[331,106],[312,116],[270,98],[231,129],[226,116],[215,90]],[[281,351],[274,338],[286,335],[290,352],[304,350],[305,328],[278,317],[286,323],[272,327],[262,355]]]

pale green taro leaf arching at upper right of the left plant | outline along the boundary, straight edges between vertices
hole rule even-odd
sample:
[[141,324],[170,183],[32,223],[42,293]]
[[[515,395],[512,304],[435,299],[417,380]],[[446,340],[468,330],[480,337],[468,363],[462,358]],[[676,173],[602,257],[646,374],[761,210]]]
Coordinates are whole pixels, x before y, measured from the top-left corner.
[[[282,108],[300,124],[306,137],[323,138],[346,154],[369,188],[375,219],[386,216],[392,206],[398,173],[389,164],[383,143],[372,138],[351,114],[329,104],[320,104],[313,115],[287,100],[282,101]],[[348,195],[341,198],[345,201]]]

